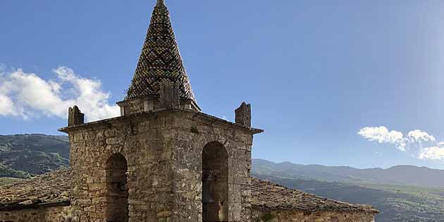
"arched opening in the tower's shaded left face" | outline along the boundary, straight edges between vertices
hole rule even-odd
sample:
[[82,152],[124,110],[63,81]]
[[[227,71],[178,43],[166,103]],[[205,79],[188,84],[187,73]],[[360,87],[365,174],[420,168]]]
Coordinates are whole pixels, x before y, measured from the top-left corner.
[[128,164],[122,154],[106,161],[106,222],[128,222]]

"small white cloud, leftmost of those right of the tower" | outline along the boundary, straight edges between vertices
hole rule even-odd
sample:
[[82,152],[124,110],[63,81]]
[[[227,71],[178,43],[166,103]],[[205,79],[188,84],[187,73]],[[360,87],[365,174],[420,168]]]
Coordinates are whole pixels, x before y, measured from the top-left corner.
[[405,151],[405,139],[402,132],[389,131],[385,126],[379,126],[362,128],[358,134],[370,141],[395,144],[397,149]]

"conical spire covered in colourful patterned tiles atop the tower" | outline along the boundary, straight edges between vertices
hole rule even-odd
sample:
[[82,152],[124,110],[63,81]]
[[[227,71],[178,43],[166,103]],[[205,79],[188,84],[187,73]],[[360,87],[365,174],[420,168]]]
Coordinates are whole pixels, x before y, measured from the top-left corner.
[[157,0],[126,99],[159,95],[161,82],[165,80],[179,86],[180,97],[196,103],[175,41],[168,8],[163,0]]

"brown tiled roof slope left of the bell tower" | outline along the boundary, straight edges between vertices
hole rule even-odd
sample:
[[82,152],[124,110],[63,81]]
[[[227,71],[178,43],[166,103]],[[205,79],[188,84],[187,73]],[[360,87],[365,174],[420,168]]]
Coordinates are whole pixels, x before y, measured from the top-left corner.
[[69,170],[53,171],[0,187],[0,210],[68,202]]

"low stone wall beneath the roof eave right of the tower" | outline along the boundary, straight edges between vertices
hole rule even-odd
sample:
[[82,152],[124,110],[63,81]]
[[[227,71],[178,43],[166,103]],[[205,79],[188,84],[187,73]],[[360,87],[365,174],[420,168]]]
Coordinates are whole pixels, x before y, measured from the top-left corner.
[[303,211],[252,210],[252,222],[375,222],[374,213],[329,212],[304,213]]

